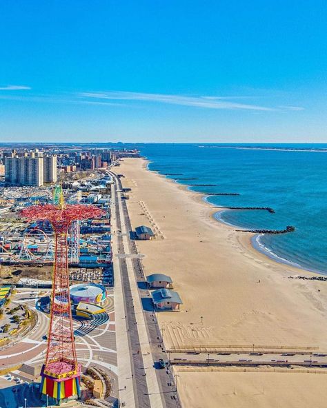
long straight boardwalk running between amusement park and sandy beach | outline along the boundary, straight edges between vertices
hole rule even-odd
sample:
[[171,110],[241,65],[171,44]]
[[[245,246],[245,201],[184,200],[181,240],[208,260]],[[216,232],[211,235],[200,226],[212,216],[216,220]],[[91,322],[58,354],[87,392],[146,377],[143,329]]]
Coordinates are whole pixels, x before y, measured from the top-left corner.
[[157,369],[166,359],[155,313],[143,310],[148,291],[131,230],[126,202],[121,200],[121,182],[110,173],[112,185],[112,244],[115,270],[117,360],[120,404],[123,407],[181,407],[170,369]]

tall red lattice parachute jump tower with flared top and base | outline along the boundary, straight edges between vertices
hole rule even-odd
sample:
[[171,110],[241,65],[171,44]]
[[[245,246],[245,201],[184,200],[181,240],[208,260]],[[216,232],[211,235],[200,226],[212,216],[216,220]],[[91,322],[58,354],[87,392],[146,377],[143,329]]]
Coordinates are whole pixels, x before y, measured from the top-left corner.
[[97,218],[101,214],[92,205],[66,205],[62,193],[57,205],[33,205],[21,211],[31,221],[48,220],[54,231],[50,327],[40,391],[59,405],[62,400],[78,398],[80,394],[81,366],[77,363],[69,292],[68,229],[72,221]]

